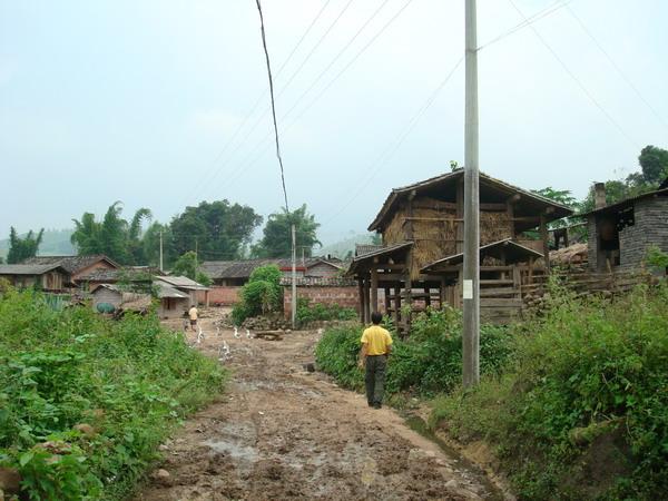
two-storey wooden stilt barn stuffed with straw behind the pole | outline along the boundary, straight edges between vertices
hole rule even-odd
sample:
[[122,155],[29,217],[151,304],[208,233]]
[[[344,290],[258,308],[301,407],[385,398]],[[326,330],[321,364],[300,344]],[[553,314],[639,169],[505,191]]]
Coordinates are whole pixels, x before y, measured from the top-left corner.
[[[392,190],[369,226],[383,245],[365,246],[348,269],[360,287],[361,321],[367,323],[379,308],[379,289],[402,331],[411,321],[402,311],[461,306],[463,174],[458,169]],[[549,272],[548,223],[571,214],[553,200],[480,175],[481,316],[505,322],[518,313],[522,283]]]

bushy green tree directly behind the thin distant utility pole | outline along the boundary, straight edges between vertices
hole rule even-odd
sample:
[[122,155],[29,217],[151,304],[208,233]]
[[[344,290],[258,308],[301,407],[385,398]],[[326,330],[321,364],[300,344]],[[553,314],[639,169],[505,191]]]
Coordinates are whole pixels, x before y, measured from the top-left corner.
[[306,204],[292,213],[283,209],[281,213],[269,215],[263,229],[263,238],[253,246],[253,254],[257,257],[289,257],[292,255],[292,225],[295,225],[296,244],[298,249],[305,249],[305,255],[311,256],[313,247],[320,245],[315,216],[307,213]]

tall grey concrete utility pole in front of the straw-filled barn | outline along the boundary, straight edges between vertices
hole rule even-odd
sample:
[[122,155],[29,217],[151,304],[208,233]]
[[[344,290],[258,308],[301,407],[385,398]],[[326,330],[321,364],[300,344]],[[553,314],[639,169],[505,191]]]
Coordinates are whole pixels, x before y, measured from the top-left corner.
[[466,108],[464,127],[463,384],[480,380],[480,191],[478,173],[478,35],[475,0],[466,0]]

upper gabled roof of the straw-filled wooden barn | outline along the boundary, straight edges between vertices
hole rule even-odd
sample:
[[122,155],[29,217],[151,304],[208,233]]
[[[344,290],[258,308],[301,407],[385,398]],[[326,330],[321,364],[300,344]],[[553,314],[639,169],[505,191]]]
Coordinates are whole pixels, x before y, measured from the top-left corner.
[[[375,232],[376,229],[380,229],[383,220],[385,220],[387,215],[394,208],[395,204],[399,200],[401,200],[402,198],[407,197],[411,191],[413,191],[413,190],[420,191],[422,189],[431,188],[431,187],[433,187],[435,185],[440,185],[440,184],[454,183],[455,180],[458,180],[458,178],[462,177],[463,175],[464,175],[464,169],[458,169],[452,173],[442,174],[440,176],[435,176],[430,179],[414,183],[409,186],[403,186],[401,188],[394,188],[390,193],[387,198],[385,199],[383,207],[376,215],[375,219],[369,226],[369,230]],[[519,188],[517,186],[510,185],[505,181],[502,181],[494,177],[488,176],[487,174],[480,173],[480,181],[483,184],[493,186],[499,190],[507,191],[509,195],[510,194],[521,194],[522,197],[529,198],[542,206],[554,207],[554,212],[549,215],[548,222],[554,220],[554,219],[560,219],[566,216],[570,216],[573,213],[573,210],[570,207],[558,204],[554,200],[546,198],[541,195],[537,195],[534,193],[531,193],[525,189]]]

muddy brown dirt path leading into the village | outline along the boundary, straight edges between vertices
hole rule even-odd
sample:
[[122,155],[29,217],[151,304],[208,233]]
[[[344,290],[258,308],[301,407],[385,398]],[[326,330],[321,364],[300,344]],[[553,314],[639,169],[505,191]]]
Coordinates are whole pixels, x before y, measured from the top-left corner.
[[316,333],[283,341],[225,340],[233,371],[223,397],[165,444],[165,461],[136,500],[461,500],[497,498],[484,479],[411,431],[389,409],[369,409],[313,362]]

